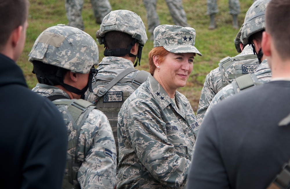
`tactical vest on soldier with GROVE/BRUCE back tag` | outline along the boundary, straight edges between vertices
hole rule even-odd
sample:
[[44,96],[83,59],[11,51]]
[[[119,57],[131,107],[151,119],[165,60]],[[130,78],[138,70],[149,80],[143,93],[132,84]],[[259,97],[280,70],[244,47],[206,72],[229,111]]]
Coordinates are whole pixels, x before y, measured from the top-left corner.
[[[119,145],[118,145],[118,136],[117,136],[117,123],[118,123],[118,113],[124,103],[124,101],[135,91],[144,81],[146,81],[149,72],[141,70],[135,74],[132,78],[124,78],[131,72],[138,71],[135,68],[128,68],[121,72],[117,77],[106,77],[106,76],[95,76],[94,81],[95,89],[99,85],[107,85],[103,88],[100,88],[96,95],[96,98],[93,100],[93,104],[102,111],[108,118],[109,123],[112,127],[114,140],[116,143],[116,152],[117,152],[117,164],[119,162]],[[118,83],[118,84],[117,84]],[[109,90],[113,86],[130,86],[132,90],[122,90],[122,91],[112,91]],[[87,97],[91,92],[88,92]]]

